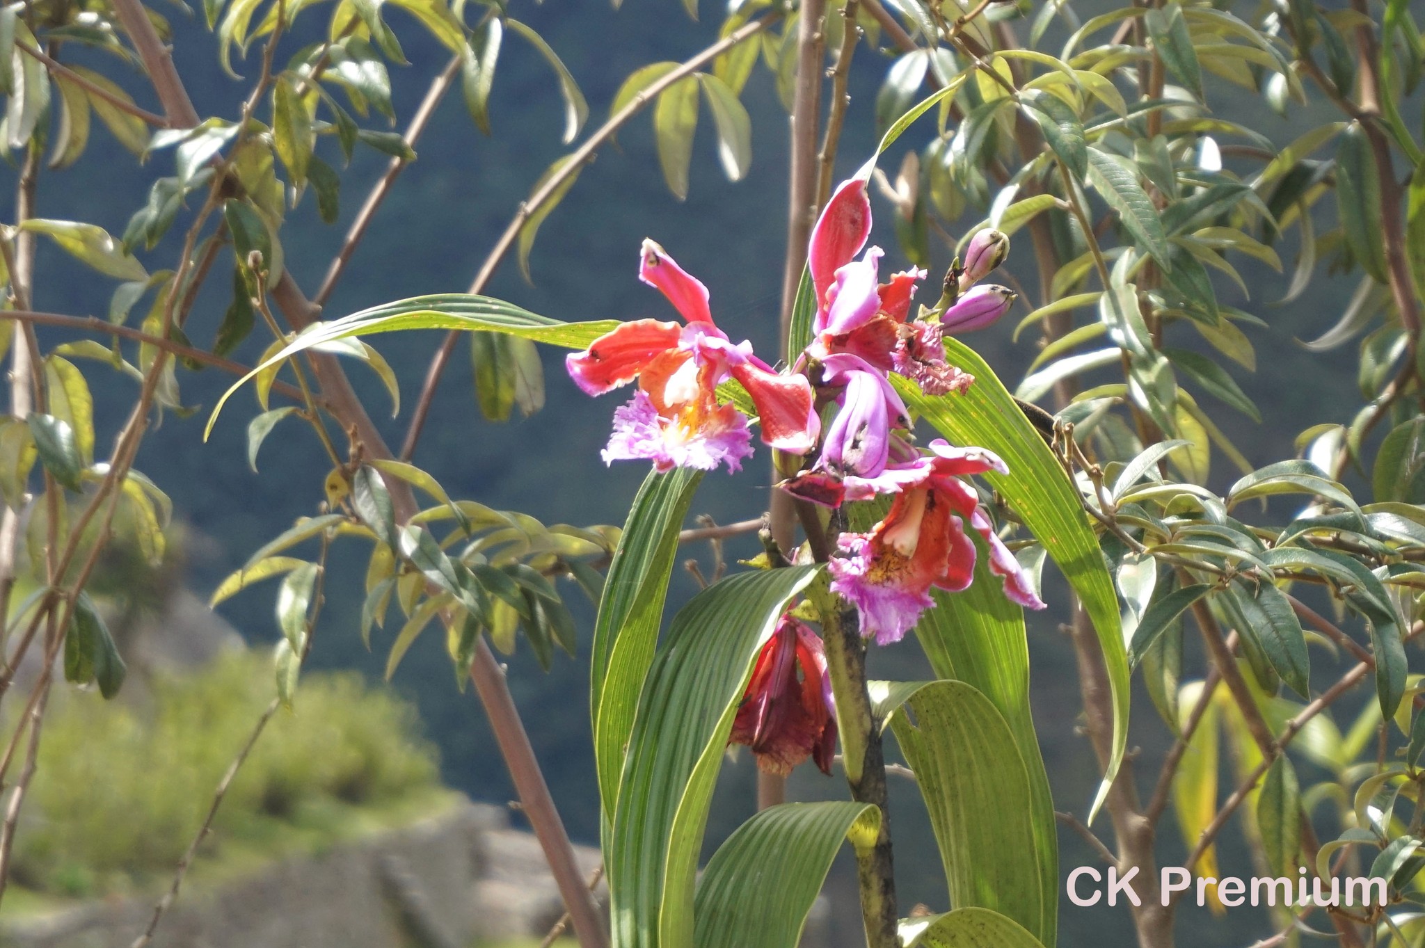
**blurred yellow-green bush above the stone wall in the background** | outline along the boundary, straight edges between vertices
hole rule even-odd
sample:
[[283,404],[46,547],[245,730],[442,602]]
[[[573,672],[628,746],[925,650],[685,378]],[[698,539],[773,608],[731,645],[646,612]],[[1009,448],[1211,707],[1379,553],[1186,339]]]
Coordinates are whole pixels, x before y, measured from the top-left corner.
[[[261,653],[157,673],[128,703],[56,688],[16,834],[14,880],[87,897],[170,877],[272,695]],[[415,706],[356,672],[314,672],[294,712],[268,723],[200,855],[251,863],[321,848],[437,796],[447,794],[436,749]]]

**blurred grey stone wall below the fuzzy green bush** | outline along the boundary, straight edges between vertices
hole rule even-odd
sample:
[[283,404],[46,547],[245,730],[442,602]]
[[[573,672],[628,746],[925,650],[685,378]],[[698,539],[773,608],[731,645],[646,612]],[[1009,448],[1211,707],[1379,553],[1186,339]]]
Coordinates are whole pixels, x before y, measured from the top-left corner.
[[[593,873],[598,851],[581,848]],[[600,891],[603,891],[600,888]],[[0,917],[4,948],[128,948],[152,898]],[[502,807],[462,801],[412,826],[185,888],[152,948],[466,948],[542,937],[563,912],[539,844]]]

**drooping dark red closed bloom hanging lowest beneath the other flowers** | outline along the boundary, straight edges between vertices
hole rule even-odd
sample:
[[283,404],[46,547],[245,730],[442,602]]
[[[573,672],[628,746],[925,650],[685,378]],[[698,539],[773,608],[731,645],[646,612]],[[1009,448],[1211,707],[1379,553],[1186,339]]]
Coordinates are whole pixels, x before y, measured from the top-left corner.
[[787,776],[808,757],[831,773],[836,705],[821,639],[784,615],[752,666],[728,744],[747,744],[757,766]]

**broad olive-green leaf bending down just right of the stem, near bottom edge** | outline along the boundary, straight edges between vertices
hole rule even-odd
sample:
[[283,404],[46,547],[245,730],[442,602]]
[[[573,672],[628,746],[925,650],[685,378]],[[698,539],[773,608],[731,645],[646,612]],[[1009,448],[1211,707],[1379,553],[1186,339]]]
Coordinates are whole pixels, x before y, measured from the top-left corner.
[[915,723],[902,709],[891,729],[929,810],[950,902],[1037,929],[1046,894],[1027,771],[1009,725],[965,682],[932,682],[906,703]]

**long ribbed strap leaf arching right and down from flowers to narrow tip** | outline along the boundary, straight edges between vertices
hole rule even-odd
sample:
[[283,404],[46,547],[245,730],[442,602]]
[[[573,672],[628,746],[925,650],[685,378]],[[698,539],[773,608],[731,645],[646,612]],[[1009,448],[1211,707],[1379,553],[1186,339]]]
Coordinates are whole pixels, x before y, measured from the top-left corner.
[[983,359],[958,339],[946,337],[945,352],[952,364],[975,376],[969,391],[925,396],[915,383],[892,376],[896,390],[912,411],[952,443],[986,447],[1009,465],[1007,475],[986,474],[985,480],[1010,502],[1063,571],[1089,612],[1103,648],[1113,692],[1113,753],[1090,809],[1092,820],[1119,773],[1129,734],[1129,659],[1113,579],[1089,528],[1077,490],[1003,383]]

